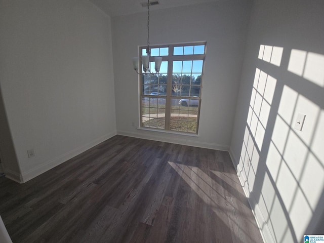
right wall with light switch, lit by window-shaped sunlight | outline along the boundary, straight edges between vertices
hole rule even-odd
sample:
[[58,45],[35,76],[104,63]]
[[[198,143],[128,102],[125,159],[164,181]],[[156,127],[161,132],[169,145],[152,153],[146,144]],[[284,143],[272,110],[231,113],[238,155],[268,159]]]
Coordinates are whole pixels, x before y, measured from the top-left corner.
[[266,242],[324,232],[323,23],[323,1],[253,7],[230,154]]

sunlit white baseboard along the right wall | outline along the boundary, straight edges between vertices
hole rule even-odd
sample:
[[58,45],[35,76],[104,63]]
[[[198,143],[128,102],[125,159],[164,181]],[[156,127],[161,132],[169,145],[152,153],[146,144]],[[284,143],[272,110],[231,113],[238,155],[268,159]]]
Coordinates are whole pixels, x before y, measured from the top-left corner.
[[[270,242],[274,243],[275,241],[273,239],[272,234],[270,233],[271,231],[270,231],[269,225],[267,224],[267,221],[264,219],[264,216],[262,215],[259,205],[256,202],[253,203],[251,201],[254,198],[251,198],[251,193],[249,193],[249,191],[246,191],[246,187],[244,185],[247,182],[247,178],[245,177],[245,175],[243,173],[240,173],[240,174],[238,173],[239,171],[242,170],[242,168],[240,168],[240,166],[239,166],[239,160],[235,157],[231,148],[229,149],[228,152],[229,152],[229,156],[232,159],[233,166],[236,170],[236,175],[238,176],[238,180],[241,183],[241,186],[243,188],[243,191],[244,191],[246,197],[248,198],[250,208],[251,208],[253,216],[257,222],[257,225],[260,230],[263,241],[265,243],[270,243]],[[252,209],[251,205],[255,205],[255,209]],[[256,211],[258,211],[258,213]],[[263,227],[261,227],[261,225],[263,225]]]

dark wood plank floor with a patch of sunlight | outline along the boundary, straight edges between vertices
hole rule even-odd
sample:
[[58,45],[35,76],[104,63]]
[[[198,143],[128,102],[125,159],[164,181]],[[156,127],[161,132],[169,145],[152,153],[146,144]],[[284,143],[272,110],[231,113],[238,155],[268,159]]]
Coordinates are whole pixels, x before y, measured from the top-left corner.
[[0,178],[18,242],[263,242],[224,151],[115,136],[24,184]]

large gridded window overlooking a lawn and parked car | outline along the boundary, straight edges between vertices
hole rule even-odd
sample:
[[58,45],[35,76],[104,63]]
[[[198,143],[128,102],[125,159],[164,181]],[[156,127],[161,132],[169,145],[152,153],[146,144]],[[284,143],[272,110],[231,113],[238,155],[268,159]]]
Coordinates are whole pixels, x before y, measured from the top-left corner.
[[163,60],[158,74],[141,74],[141,127],[198,133],[205,50],[206,43],[151,47],[150,69],[154,56]]

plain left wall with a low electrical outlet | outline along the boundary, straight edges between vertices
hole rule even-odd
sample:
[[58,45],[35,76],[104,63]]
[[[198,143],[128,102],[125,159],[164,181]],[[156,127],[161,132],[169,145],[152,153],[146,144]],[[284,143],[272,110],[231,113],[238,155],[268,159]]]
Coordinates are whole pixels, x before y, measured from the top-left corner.
[[9,174],[26,181],[115,134],[110,17],[86,0],[32,0],[2,1],[0,18],[0,85],[20,168]]

